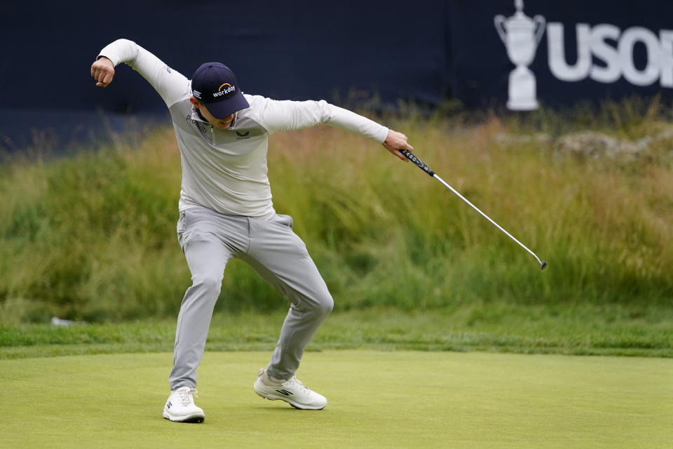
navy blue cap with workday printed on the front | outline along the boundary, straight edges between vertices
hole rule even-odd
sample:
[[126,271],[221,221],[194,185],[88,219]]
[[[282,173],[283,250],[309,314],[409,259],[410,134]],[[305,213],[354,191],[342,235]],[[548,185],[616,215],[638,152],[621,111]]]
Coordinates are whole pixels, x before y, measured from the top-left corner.
[[238,86],[236,75],[219,62],[200,65],[191,77],[191,93],[205,103],[216,119],[250,107]]

